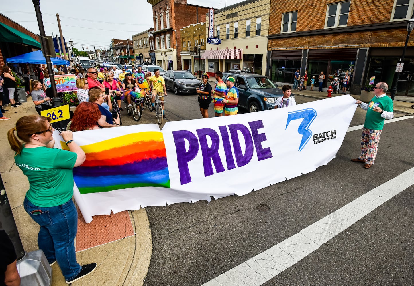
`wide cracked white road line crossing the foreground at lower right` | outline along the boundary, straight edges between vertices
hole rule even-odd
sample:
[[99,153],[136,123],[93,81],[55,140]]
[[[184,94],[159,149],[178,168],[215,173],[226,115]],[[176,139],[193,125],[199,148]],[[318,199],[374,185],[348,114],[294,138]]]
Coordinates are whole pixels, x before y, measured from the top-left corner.
[[414,167],[202,286],[258,286],[414,184]]

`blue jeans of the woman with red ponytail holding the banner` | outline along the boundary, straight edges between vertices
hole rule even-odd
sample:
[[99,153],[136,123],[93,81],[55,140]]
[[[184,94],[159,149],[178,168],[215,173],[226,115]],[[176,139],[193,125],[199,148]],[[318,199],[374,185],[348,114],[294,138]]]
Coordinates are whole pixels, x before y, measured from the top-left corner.
[[[56,207],[37,207],[24,198],[23,206],[29,216],[40,225],[37,243],[48,262],[57,260],[67,281],[75,278],[82,270],[75,254],[74,240],[77,233],[75,204],[69,200]],[[32,214],[31,212],[35,210],[41,210],[42,213]]]

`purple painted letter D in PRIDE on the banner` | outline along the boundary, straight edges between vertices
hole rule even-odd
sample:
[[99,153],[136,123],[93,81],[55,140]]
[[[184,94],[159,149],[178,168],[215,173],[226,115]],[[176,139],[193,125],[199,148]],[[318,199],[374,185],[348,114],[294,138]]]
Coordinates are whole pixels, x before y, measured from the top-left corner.
[[[253,157],[253,139],[250,135],[250,130],[240,123],[230,124],[229,130],[231,135],[231,141],[233,141],[234,157],[236,157],[237,167],[243,167],[248,162],[250,162],[250,160],[252,160]],[[244,154],[241,151],[237,131],[240,131],[244,138],[244,142],[246,145],[246,150]]]

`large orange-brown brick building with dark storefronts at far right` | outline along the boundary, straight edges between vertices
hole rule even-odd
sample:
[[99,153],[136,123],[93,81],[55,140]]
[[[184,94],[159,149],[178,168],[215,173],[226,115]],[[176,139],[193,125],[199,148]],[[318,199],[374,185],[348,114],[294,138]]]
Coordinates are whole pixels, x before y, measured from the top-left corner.
[[[294,71],[327,74],[323,86],[345,71],[351,93],[359,94],[371,76],[391,87],[407,36],[414,0],[272,0],[267,75],[293,83]],[[414,95],[414,41],[409,41],[397,94]],[[309,82],[308,82],[309,84]]]

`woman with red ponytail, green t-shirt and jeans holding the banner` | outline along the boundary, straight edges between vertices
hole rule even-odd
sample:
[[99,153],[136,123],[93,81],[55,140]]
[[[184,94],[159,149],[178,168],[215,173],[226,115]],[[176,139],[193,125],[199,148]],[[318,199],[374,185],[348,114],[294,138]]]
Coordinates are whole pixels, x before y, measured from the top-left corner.
[[77,210],[72,201],[72,168],[84,162],[85,153],[72,140],[72,131],[60,133],[70,151],[53,148],[51,120],[40,115],[21,117],[7,139],[16,152],[16,165],[29,180],[23,206],[40,225],[39,248],[51,265],[58,262],[69,284],[96,269],[96,263],[80,266],[75,255]]

